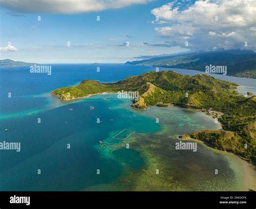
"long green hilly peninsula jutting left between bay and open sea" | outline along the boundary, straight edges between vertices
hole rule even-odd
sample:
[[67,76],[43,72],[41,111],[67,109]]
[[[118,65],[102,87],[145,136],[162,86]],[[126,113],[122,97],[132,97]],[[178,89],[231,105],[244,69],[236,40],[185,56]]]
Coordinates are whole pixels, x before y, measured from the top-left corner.
[[[246,98],[238,96],[238,85],[207,75],[182,76],[173,71],[147,72],[116,83],[101,84],[94,80],[83,80],[78,86],[63,87],[52,92],[63,100],[86,97],[95,93],[138,91],[139,109],[156,104],[176,104],[196,109],[213,108],[222,112],[241,110]],[[252,107],[246,106],[247,111]]]

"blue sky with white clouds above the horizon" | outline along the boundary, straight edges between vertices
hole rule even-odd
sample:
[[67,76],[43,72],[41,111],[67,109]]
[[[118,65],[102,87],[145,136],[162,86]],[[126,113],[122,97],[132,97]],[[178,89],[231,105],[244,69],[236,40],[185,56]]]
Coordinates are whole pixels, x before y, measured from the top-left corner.
[[256,50],[251,0],[0,0],[0,58],[125,63],[179,52]]

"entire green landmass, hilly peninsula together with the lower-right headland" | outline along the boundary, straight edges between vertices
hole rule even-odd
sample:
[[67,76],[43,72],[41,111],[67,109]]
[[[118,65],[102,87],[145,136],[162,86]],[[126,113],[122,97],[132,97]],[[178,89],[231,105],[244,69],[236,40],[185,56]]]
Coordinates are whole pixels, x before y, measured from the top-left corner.
[[52,95],[62,100],[85,98],[98,93],[138,91],[139,99],[132,106],[146,110],[150,105],[170,104],[200,109],[221,122],[224,131],[202,130],[183,139],[205,141],[219,150],[239,154],[244,159],[256,159],[256,97],[238,95],[237,84],[199,74],[182,76],[173,71],[147,72],[116,83],[101,84],[83,80],[78,86],[62,87]]

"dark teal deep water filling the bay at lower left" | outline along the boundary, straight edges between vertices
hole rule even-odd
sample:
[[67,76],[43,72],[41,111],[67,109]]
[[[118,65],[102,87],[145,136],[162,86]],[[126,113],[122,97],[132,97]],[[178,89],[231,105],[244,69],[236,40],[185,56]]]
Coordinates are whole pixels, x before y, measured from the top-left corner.
[[[14,131],[1,132],[1,138],[21,141],[22,151],[0,152],[0,190],[82,190],[93,184],[111,183],[122,174],[116,160],[101,159],[97,152],[99,140],[111,138],[111,132],[127,127],[137,132],[154,132],[159,126],[144,116],[133,117],[132,112],[109,109],[122,101],[114,96],[109,102],[105,97],[95,96],[33,116],[2,120],[1,126],[14,127]],[[95,106],[95,110],[90,110],[90,106]],[[41,118],[41,124],[36,123],[37,118]],[[97,124],[97,118],[102,123]],[[139,127],[139,122],[147,126]],[[71,145],[70,150],[67,144]],[[129,152],[123,160],[133,158],[138,160],[131,169],[143,164],[136,152]],[[37,169],[42,171],[40,176]]]

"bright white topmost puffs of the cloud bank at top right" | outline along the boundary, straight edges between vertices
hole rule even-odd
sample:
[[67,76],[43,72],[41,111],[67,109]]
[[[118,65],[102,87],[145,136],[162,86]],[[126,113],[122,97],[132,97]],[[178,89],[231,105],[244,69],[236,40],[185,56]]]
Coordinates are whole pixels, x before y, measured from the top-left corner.
[[[255,21],[256,4],[250,0],[230,0],[212,3],[196,1],[185,10],[180,11],[174,3],[168,3],[153,9],[151,13],[165,22],[193,22],[201,26],[244,26]],[[218,21],[214,21],[215,16]],[[255,23],[255,22],[254,22]]]

